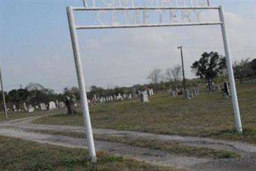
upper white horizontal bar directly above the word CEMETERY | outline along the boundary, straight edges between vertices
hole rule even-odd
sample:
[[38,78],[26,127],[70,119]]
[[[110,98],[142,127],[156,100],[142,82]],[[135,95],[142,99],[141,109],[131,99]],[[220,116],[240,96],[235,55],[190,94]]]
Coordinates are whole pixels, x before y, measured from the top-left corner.
[[218,10],[220,9],[219,6],[191,6],[191,7],[185,7],[185,6],[176,6],[176,7],[106,7],[106,8],[85,8],[85,7],[72,7],[75,11],[99,11],[99,10]]

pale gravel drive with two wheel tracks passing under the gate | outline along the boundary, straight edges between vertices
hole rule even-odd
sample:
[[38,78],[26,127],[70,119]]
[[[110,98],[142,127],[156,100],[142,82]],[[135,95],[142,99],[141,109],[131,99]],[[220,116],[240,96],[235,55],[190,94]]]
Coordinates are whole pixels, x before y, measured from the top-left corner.
[[[45,116],[42,116],[45,117]],[[43,133],[33,133],[26,129],[36,130],[57,130],[57,131],[76,131],[84,132],[78,126],[56,126],[45,124],[32,124],[31,121],[39,117],[28,117],[0,123],[0,135],[8,137],[23,138],[40,143],[61,145],[65,147],[85,148],[84,138],[65,137],[61,135],[49,135]],[[227,140],[214,140],[201,137],[182,137],[178,135],[158,135],[153,133],[141,133],[136,131],[119,131],[93,129],[95,135],[115,135],[131,138],[145,138],[149,140],[176,140],[186,145],[209,147],[211,149],[225,149],[228,151],[241,152],[241,158],[212,160],[209,158],[186,157],[176,154],[169,154],[164,151],[134,147],[115,142],[95,141],[97,151],[107,151],[113,154],[143,160],[156,165],[174,165],[184,167],[189,170],[256,170],[256,146],[243,142],[231,142]]]

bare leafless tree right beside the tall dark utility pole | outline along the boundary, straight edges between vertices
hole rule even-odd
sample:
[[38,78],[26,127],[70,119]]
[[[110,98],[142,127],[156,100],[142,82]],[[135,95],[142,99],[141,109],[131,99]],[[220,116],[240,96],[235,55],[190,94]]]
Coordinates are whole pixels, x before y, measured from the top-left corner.
[[180,65],[175,65],[173,68],[167,68],[165,72],[166,79],[174,83],[174,87],[177,87],[182,76],[182,68]]

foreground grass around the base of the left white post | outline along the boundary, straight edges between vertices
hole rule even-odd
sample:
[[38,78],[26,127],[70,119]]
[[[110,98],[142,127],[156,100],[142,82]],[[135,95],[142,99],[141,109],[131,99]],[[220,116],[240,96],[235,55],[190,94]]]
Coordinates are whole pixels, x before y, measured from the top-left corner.
[[86,149],[0,137],[0,170],[178,170],[127,160],[104,152],[97,152],[97,163],[91,163],[87,156]]

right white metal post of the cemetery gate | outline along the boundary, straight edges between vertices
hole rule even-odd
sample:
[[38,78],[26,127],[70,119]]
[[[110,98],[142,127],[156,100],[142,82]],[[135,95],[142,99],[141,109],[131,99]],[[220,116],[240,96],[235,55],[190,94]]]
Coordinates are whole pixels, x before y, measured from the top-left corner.
[[223,11],[222,6],[220,6],[220,8],[219,8],[219,13],[220,13],[220,21],[221,21],[221,31],[222,31],[222,36],[223,36],[224,48],[225,48],[225,56],[226,56],[226,62],[227,62],[227,68],[228,68],[228,80],[230,82],[230,89],[231,89],[231,93],[232,93],[231,94],[232,95],[232,104],[233,104],[235,120],[236,120],[236,130],[238,133],[242,133],[243,128],[242,128],[242,124],[241,124],[241,117],[240,117],[239,105],[238,105],[238,100],[237,100],[236,83],[235,83],[235,78],[234,78],[232,60],[231,60],[230,50],[229,50],[227,30],[225,27],[224,11]]

